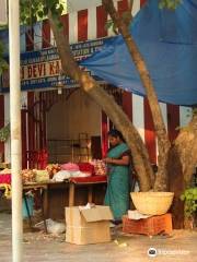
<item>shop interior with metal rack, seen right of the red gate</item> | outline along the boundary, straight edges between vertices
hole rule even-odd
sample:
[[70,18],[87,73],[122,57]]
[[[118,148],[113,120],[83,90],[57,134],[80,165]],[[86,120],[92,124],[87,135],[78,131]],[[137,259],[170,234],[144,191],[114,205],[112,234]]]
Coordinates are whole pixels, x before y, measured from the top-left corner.
[[101,108],[80,88],[58,96],[47,111],[49,163],[88,162],[93,156],[92,143],[101,152]]

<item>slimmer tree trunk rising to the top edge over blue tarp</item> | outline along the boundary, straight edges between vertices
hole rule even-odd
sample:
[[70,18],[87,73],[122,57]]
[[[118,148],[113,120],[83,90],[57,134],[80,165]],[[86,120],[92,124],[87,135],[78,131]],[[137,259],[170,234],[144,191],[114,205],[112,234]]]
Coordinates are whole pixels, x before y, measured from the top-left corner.
[[154,130],[158,136],[158,166],[159,170],[157,174],[157,179],[154,183],[154,191],[166,191],[167,190],[167,154],[170,150],[170,140],[166,134],[165,124],[161,114],[161,108],[158,102],[157,94],[154,92],[153,83],[151,81],[149,71],[146,67],[146,62],[138,50],[138,47],[130,34],[129,26],[124,20],[119,16],[118,12],[114,8],[113,0],[103,0],[102,1],[105,10],[109,13],[114,24],[117,26],[119,33],[121,33],[123,38],[128,47],[132,61],[139,72],[142,85],[147,92],[147,97],[149,100],[152,119],[154,123]]

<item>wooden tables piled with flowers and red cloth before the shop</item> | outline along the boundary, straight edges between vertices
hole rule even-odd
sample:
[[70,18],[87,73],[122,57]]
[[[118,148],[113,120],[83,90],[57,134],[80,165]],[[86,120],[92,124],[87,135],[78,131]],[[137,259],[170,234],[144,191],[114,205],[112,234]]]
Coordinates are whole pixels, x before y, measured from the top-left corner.
[[[0,174],[1,196],[11,199],[11,169],[3,169]],[[34,195],[33,206],[42,209],[45,218],[63,218],[65,206],[86,204],[94,202],[103,204],[106,187],[106,172],[101,163],[67,163],[48,165],[43,170],[22,170],[23,198],[27,207],[27,216],[31,223],[32,212],[28,210],[26,193]],[[39,198],[39,201],[37,200]],[[58,203],[58,205],[57,205]]]

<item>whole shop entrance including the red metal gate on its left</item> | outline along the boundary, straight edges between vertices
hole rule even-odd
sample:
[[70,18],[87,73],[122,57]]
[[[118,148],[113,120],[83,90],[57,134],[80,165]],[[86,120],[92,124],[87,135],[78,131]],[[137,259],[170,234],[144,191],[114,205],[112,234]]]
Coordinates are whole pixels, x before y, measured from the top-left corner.
[[[104,88],[121,105],[119,88]],[[28,106],[22,109],[23,168],[100,159],[111,127],[101,107],[80,88],[30,92]]]

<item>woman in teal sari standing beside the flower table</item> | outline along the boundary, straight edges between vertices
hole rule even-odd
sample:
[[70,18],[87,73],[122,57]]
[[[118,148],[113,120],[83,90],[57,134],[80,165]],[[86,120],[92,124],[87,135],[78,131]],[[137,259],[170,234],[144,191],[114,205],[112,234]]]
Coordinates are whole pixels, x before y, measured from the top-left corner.
[[108,183],[104,203],[111,206],[115,221],[121,221],[129,209],[130,151],[118,130],[111,130],[108,140],[111,148],[105,158]]

